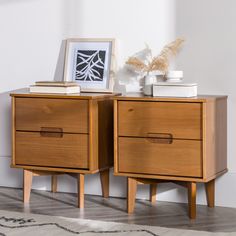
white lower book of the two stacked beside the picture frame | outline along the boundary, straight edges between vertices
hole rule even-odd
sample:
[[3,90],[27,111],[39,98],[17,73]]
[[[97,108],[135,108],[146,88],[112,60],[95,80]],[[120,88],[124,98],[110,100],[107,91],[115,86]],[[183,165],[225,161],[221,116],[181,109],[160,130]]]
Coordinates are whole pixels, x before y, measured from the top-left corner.
[[80,93],[80,86],[30,86],[31,93],[60,93],[60,94],[69,94],[69,93]]

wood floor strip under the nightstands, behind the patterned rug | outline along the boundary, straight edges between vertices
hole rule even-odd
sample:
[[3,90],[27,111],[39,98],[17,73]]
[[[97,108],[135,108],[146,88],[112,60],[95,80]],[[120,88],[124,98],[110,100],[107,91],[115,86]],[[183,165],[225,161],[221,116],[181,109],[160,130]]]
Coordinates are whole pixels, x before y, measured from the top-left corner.
[[0,188],[0,209],[35,214],[102,221],[153,225],[211,232],[236,232],[236,209],[197,206],[197,219],[189,220],[187,205],[136,200],[135,212],[126,213],[126,200],[85,196],[85,209],[76,207],[77,196],[70,193],[32,191],[28,205],[22,203],[22,190]]

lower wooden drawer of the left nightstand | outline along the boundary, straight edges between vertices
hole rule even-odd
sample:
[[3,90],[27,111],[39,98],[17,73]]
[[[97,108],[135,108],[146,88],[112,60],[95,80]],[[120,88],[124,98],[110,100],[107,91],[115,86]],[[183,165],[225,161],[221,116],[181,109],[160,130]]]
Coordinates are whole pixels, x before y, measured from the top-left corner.
[[15,164],[88,168],[88,135],[16,132]]

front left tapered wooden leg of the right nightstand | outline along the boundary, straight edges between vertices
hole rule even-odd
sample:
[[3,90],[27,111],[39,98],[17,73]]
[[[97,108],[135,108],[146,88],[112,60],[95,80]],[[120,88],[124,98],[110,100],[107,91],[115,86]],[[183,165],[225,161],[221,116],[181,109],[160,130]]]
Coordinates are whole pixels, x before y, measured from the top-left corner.
[[132,213],[134,211],[135,197],[137,190],[136,179],[128,177],[128,188],[127,188],[127,212]]

